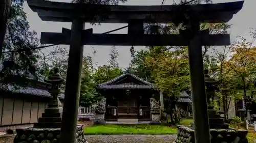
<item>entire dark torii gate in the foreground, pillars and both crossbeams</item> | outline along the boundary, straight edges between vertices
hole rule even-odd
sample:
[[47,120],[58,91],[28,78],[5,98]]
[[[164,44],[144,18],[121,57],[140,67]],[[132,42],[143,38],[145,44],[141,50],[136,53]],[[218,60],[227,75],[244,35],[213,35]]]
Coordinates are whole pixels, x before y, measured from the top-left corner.
[[[241,10],[244,1],[175,6],[108,6],[28,0],[29,7],[44,21],[72,22],[71,30],[41,33],[42,44],[70,45],[61,143],[75,142],[83,45],[173,45],[188,46],[193,117],[197,143],[210,143],[206,105],[202,45],[229,45],[228,34],[210,35],[200,31],[200,23],[228,22]],[[161,7],[161,9],[160,9]],[[128,23],[128,34],[93,34],[85,22]],[[179,35],[145,35],[143,23],[182,23],[187,30]]]

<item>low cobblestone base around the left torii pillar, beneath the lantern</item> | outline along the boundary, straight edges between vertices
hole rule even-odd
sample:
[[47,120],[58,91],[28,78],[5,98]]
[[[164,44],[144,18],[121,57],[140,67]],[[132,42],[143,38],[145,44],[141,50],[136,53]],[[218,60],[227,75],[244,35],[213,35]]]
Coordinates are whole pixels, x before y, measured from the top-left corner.
[[[60,128],[20,128],[16,129],[14,143],[58,143]],[[76,143],[88,143],[83,134],[83,125],[77,125]]]

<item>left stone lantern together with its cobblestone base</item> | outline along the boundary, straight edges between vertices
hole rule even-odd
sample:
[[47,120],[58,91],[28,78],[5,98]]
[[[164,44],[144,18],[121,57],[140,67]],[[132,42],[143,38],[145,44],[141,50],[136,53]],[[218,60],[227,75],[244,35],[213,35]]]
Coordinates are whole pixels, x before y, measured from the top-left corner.
[[[62,107],[59,101],[60,85],[63,82],[58,73],[58,69],[54,69],[54,74],[46,80],[49,83],[49,92],[52,99],[48,104],[48,108],[42,113],[42,117],[38,119],[38,123],[34,127],[16,129],[17,135],[14,138],[14,143],[33,142],[33,143],[58,143],[60,139],[60,127],[62,119]],[[86,138],[83,135],[83,125],[76,127],[77,142],[86,143]]]

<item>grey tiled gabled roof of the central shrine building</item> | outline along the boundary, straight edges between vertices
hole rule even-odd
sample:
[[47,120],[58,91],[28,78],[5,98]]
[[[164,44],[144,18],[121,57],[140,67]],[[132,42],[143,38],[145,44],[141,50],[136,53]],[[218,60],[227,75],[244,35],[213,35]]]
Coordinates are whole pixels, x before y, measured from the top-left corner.
[[[130,79],[129,79],[130,78]],[[152,83],[136,75],[125,73],[116,78],[97,85],[98,89],[153,89]]]

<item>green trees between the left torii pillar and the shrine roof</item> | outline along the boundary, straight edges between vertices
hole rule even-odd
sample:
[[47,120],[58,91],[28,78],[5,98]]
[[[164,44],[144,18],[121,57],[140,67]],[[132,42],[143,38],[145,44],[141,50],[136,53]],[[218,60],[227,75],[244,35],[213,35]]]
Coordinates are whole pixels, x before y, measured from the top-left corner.
[[[96,51],[95,51],[96,54]],[[83,69],[80,88],[80,103],[83,106],[89,106],[98,101],[101,95],[96,91],[96,85],[109,81],[122,74],[122,70],[118,67],[118,51],[115,47],[109,54],[109,65],[103,65],[95,68],[92,63],[92,57],[86,56],[83,59]]]

